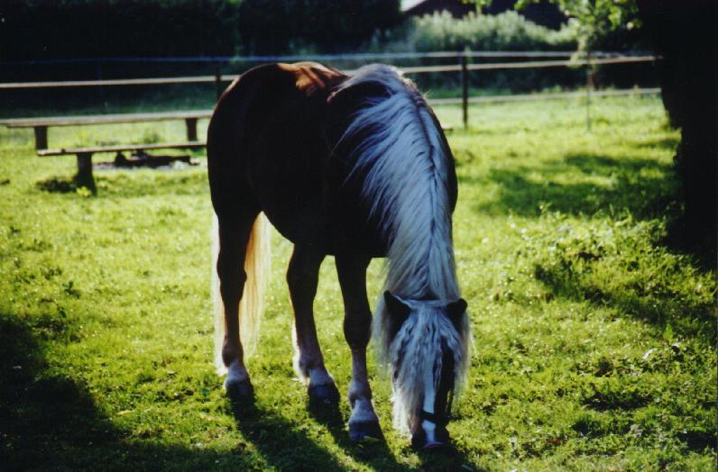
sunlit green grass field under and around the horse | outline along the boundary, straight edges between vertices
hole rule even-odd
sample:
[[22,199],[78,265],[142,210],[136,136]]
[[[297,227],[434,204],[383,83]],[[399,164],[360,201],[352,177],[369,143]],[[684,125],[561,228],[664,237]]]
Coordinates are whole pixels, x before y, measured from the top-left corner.
[[[236,413],[211,364],[206,168],[97,170],[90,196],[66,185],[73,158],[35,158],[31,131],[0,129],[0,469],[714,470],[715,273],[663,244],[678,134],[660,100],[595,100],[590,132],[573,100],[474,107],[467,132],[458,108],[437,113],[456,127],[456,260],[474,328],[452,448],[418,453],[391,430],[373,361],[386,443],[349,442],[345,401],[308,408],[277,234],[248,363],[256,405]],[[58,128],[50,142],[183,134]],[[315,307],[344,395],[331,259]]]

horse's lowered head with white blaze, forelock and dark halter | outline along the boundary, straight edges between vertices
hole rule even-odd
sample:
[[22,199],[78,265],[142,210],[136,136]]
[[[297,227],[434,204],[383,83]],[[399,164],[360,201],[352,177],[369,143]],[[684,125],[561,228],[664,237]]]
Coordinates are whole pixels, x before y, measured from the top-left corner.
[[384,293],[395,426],[416,448],[448,442],[446,423],[468,365],[466,302],[405,300]]

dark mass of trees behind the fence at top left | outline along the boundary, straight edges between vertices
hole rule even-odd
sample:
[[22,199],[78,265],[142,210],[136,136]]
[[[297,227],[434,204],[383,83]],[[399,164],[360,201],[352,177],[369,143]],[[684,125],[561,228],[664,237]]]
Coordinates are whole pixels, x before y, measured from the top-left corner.
[[2,0],[0,60],[348,50],[399,0]]

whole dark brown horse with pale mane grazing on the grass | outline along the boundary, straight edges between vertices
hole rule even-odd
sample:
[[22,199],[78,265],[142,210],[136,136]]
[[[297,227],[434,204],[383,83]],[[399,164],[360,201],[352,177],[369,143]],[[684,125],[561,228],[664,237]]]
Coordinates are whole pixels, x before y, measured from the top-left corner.
[[[216,104],[207,165],[218,236],[216,362],[227,394],[253,397],[244,349],[262,311],[269,220],[294,243],[294,366],[310,401],[339,398],[312,312],[319,266],[333,255],[352,353],[351,439],[382,438],[366,371],[373,331],[395,427],[415,447],[445,444],[470,333],[452,244],[454,158],[417,88],[381,65],[351,76],[317,63],[253,68]],[[374,257],[388,263],[372,322],[366,268]]]

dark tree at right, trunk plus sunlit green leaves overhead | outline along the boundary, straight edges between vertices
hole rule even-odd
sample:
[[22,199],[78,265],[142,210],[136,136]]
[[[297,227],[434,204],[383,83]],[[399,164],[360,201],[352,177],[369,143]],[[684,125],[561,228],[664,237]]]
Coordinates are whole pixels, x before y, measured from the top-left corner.
[[[479,6],[492,0],[474,0]],[[517,8],[541,0],[519,0]],[[716,101],[715,0],[548,0],[580,23],[579,49],[600,44],[609,33],[640,28],[661,58],[663,103],[670,122],[681,130],[675,157],[684,211],[669,238],[686,250],[715,259]]]

